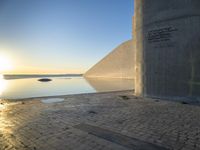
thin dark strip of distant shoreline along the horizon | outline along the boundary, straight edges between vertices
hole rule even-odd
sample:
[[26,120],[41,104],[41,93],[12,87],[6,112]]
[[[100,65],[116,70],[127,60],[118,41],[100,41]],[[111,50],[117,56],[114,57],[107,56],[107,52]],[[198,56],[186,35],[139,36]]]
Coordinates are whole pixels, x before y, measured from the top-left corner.
[[81,77],[83,74],[3,74],[5,80],[43,77]]

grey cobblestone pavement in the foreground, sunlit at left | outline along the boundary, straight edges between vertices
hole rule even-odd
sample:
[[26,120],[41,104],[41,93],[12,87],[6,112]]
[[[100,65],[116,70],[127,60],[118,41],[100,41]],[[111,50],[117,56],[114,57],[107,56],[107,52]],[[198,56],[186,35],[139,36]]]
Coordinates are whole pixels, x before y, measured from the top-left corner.
[[1,100],[0,149],[200,149],[199,106],[141,99],[131,92],[60,98],[64,101]]

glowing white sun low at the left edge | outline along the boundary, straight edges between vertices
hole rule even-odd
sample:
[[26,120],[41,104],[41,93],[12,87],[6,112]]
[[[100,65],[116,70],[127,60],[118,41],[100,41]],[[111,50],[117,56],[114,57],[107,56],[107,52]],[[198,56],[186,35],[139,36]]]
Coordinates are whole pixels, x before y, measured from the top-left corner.
[[0,71],[8,71],[11,69],[11,60],[7,56],[0,54]]

